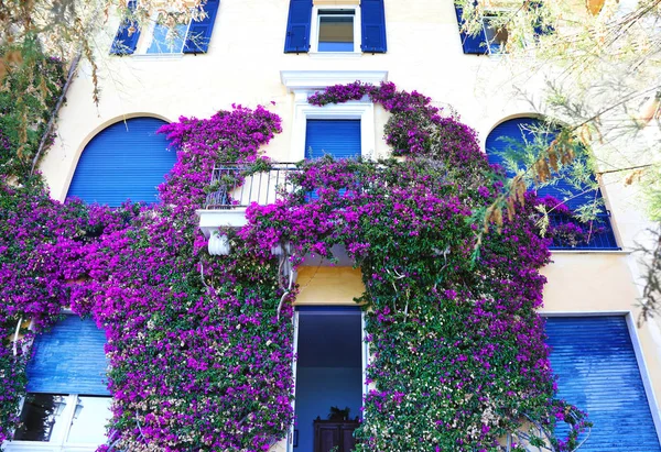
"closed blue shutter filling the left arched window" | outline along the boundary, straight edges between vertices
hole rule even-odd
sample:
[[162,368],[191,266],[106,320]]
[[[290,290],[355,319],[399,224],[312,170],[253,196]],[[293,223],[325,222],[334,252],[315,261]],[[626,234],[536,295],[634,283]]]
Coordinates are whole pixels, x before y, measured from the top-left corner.
[[156,202],[156,186],[176,162],[155,118],[133,118],[104,129],[85,146],[68,197],[118,207],[127,199]]

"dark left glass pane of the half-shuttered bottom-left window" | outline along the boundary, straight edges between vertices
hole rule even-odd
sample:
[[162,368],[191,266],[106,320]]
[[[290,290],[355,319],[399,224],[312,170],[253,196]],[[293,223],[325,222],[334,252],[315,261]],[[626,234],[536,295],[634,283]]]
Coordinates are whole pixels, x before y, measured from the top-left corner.
[[17,429],[14,440],[51,441],[51,439],[62,439],[66,430],[66,421],[62,417],[66,403],[66,396],[29,393],[21,410],[21,425]]

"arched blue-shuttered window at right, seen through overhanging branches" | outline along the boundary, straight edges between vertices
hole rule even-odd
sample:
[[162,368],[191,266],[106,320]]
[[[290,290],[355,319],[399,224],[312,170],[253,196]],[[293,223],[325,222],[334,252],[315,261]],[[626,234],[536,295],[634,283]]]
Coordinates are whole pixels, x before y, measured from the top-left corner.
[[[538,141],[535,143],[535,136],[533,130],[541,130],[542,123],[538,119],[533,118],[518,118],[509,121],[505,121],[498,124],[487,136],[486,151],[490,164],[499,164],[506,168],[507,176],[513,177],[514,172],[509,166],[506,155],[516,152],[516,144],[535,144],[538,146],[548,145],[554,139],[554,133],[548,133],[543,143]],[[541,135],[540,135],[541,136]],[[517,163],[517,162],[514,162]],[[530,164],[530,163],[529,163]],[[594,181],[594,178],[593,178]],[[581,206],[586,206],[592,202],[603,202],[603,196],[600,189],[589,189],[587,186],[575,187],[570,184],[568,176],[561,172],[560,177],[554,181],[553,185],[540,188],[537,190],[538,196],[545,197],[552,196],[563,201],[563,203],[570,209],[577,209]],[[602,207],[603,213],[597,214],[597,218],[592,224],[585,224],[582,228],[585,230],[590,228],[594,231],[600,231],[590,235],[589,242],[571,243],[560,238],[554,239],[552,249],[555,250],[619,250],[613,227],[610,224],[610,216]],[[571,218],[563,214],[551,212],[550,221],[552,225],[561,225],[570,222],[575,222]]]

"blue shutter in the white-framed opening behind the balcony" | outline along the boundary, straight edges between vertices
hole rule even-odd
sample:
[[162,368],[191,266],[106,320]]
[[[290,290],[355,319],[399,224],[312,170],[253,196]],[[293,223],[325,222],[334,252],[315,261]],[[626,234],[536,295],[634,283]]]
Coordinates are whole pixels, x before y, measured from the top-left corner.
[[305,129],[305,158],[329,154],[335,158],[360,156],[360,120],[308,119]]

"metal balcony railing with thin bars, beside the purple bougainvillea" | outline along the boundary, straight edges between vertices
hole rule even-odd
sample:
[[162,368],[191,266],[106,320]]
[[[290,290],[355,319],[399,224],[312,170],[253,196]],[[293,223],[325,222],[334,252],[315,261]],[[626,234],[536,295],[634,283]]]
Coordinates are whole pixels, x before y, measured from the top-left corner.
[[268,205],[275,202],[283,192],[291,192],[293,185],[288,174],[297,172],[293,163],[275,163],[264,172],[245,175],[246,164],[220,164],[212,173],[212,186],[217,189],[209,192],[205,209],[232,209],[248,207],[252,202]]

